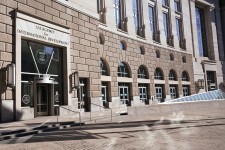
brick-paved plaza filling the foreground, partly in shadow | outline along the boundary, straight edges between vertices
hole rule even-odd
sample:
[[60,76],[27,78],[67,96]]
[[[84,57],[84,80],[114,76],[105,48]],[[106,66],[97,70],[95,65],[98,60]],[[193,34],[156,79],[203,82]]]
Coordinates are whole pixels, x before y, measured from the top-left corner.
[[[225,110],[154,116],[116,116],[93,123],[0,142],[0,149],[224,150]],[[109,119],[108,119],[109,122]]]

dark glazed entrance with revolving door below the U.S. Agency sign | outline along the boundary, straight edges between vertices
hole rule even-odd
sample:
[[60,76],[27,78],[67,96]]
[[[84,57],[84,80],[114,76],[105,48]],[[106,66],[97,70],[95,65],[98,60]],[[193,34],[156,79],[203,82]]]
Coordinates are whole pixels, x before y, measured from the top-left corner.
[[54,105],[65,102],[65,51],[28,40],[21,46],[21,106],[34,108],[34,117],[55,115]]

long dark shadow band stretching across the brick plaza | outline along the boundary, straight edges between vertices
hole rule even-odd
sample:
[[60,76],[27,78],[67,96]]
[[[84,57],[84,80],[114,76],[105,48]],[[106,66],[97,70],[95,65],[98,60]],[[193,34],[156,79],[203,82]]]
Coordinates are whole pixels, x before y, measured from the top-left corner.
[[[90,140],[90,139],[109,139],[107,135],[116,134],[126,138],[134,137],[133,133],[137,132],[154,132],[154,131],[177,131],[178,129],[190,129],[225,126],[225,123],[218,123],[225,118],[200,119],[200,120],[182,120],[171,122],[171,120],[151,120],[151,121],[133,121],[123,123],[106,123],[106,124],[88,124],[79,130],[76,128],[68,128],[58,130],[56,132],[46,132],[35,135],[24,143],[49,142],[49,141],[67,141],[67,140]],[[223,121],[225,122],[225,121]],[[140,129],[133,129],[141,127]],[[119,130],[119,131],[118,131]],[[178,132],[178,131],[177,131]],[[10,142],[10,143],[13,143]]]

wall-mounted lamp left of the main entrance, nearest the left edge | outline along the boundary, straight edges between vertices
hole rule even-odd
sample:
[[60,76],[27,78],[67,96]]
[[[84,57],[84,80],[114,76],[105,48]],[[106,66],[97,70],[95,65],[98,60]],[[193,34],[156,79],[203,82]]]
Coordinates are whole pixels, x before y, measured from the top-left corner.
[[16,85],[16,66],[10,64],[7,66],[7,86],[15,87]]

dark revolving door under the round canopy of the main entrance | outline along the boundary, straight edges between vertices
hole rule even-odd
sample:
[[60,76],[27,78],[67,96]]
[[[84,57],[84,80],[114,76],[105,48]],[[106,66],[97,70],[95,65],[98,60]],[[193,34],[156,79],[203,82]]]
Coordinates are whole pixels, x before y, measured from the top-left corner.
[[48,115],[48,103],[49,103],[49,90],[48,85],[37,85],[37,115]]

